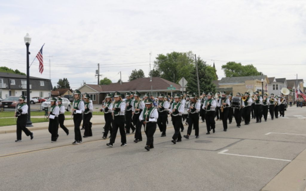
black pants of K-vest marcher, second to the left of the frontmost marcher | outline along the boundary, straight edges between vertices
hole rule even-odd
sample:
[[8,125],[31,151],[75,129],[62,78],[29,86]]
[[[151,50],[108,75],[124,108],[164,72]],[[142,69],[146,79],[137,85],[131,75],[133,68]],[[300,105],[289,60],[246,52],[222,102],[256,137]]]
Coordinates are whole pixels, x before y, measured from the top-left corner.
[[119,132],[121,135],[121,143],[126,143],[126,135],[125,135],[125,130],[124,130],[124,123],[125,123],[125,117],[124,115],[117,115],[114,116],[113,120],[113,132],[110,135],[110,143],[114,143],[117,137],[117,132],[119,128]]

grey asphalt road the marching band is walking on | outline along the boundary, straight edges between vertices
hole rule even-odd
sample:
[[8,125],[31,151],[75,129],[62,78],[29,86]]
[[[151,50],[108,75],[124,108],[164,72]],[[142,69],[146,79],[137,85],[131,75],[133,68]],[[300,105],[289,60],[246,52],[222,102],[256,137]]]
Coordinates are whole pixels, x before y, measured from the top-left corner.
[[[34,131],[30,140],[15,143],[15,133],[0,134],[0,190],[260,190],[306,148],[306,112],[291,107],[285,118],[242,125],[233,120],[228,131],[217,121],[216,133],[171,143],[174,133],[154,137],[147,152],[144,141],[113,148],[101,140],[102,125],[93,126],[93,137],[72,145],[73,129],[59,129],[58,142],[50,142],[47,130]],[[158,128],[157,128],[158,129]],[[83,133],[83,131],[82,131]],[[185,131],[183,134],[186,133]],[[288,133],[288,134],[280,134]]]

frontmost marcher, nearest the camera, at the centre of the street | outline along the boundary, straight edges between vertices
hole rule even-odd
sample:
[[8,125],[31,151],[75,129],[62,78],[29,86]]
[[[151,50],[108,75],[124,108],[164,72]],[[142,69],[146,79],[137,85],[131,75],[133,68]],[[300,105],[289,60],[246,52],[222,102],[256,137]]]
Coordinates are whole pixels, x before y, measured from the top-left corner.
[[142,110],[139,116],[139,120],[141,123],[144,124],[144,132],[146,133],[147,136],[147,143],[144,148],[147,149],[147,151],[150,151],[150,148],[154,148],[153,135],[156,131],[156,122],[159,117],[159,112],[155,107],[152,107],[153,102],[151,99],[145,100],[145,106],[146,107],[144,108],[144,110]]

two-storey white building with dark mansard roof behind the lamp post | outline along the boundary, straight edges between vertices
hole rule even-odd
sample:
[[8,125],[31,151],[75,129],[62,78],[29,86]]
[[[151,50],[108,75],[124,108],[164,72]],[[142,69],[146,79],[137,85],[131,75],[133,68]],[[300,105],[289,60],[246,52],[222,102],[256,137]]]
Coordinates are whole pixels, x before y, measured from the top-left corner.
[[[30,76],[30,96],[50,96],[52,83],[49,79]],[[27,76],[0,72],[0,98],[8,96],[27,96]]]

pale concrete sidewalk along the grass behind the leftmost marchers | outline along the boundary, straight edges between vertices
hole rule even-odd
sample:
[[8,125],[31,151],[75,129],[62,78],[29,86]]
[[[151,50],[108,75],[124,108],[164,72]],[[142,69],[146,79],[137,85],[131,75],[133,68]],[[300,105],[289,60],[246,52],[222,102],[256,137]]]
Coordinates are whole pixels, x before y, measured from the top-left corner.
[[[68,118],[68,116],[65,116]],[[33,116],[31,118],[43,118],[43,116]],[[92,125],[103,125],[105,124],[104,115],[93,115],[91,120]],[[32,123],[33,127],[27,127],[30,131],[48,129],[49,122]],[[73,120],[65,120],[64,125],[66,127],[73,127]],[[16,133],[16,125],[8,125],[0,127],[0,134],[3,133]]]

